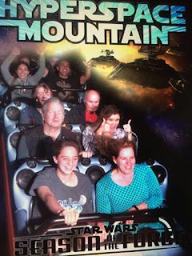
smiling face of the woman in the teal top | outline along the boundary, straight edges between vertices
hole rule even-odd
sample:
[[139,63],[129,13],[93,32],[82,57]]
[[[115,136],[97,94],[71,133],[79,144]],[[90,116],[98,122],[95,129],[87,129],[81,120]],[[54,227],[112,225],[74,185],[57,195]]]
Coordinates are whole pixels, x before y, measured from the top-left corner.
[[117,164],[118,171],[121,171],[122,174],[130,174],[134,171],[135,157],[131,147],[120,150],[118,158],[113,157],[113,160]]

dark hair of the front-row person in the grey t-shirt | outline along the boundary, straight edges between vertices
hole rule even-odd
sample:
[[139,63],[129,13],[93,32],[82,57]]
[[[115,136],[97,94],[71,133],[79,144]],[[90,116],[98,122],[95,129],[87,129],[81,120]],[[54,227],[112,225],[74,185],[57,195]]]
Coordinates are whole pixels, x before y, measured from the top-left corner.
[[61,150],[66,146],[73,146],[78,151],[78,153],[80,151],[78,142],[73,138],[58,139],[54,142],[53,155],[58,157],[58,154],[60,154]]

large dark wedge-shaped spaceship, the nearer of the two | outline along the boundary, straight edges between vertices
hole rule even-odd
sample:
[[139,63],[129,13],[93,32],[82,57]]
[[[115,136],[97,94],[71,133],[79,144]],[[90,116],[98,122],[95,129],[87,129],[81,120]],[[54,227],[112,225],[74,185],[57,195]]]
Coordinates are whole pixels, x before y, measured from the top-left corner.
[[147,57],[136,58],[134,62],[120,62],[107,78],[155,89],[172,86],[179,93],[185,91],[186,80],[182,74],[166,64],[165,60],[156,57],[164,53],[162,46],[141,46],[138,52],[147,54]]

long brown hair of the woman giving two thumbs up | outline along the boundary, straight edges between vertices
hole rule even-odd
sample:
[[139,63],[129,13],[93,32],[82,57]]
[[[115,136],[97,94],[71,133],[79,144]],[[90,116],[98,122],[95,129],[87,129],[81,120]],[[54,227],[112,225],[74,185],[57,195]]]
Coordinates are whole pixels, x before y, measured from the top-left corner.
[[103,122],[103,118],[105,118],[106,120],[108,118],[110,118],[110,116],[112,114],[119,114],[119,110],[117,108],[117,106],[114,105],[107,105],[104,106],[100,112],[100,114],[98,115],[98,119],[96,120],[96,122],[94,122],[93,124],[90,124],[90,128],[95,132],[99,129],[99,127],[102,125]]

